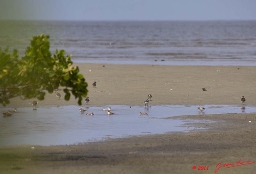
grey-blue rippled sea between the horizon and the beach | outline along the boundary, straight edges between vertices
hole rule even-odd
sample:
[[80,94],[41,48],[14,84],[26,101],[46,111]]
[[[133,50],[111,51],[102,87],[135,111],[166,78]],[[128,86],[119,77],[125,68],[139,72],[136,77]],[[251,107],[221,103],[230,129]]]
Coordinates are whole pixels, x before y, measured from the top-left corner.
[[0,21],[0,47],[41,33],[77,63],[256,66],[256,21]]

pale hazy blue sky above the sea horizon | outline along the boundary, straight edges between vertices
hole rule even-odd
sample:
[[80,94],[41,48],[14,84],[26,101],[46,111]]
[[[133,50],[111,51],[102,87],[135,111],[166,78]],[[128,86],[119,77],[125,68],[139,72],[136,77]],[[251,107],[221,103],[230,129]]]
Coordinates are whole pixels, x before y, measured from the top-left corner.
[[256,0],[0,0],[0,20],[256,20]]

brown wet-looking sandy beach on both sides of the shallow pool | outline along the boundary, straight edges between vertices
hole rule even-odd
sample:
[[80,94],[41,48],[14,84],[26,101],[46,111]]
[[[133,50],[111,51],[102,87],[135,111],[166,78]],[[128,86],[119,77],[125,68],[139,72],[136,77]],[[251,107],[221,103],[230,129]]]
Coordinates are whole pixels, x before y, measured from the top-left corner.
[[[149,93],[153,96],[149,105],[241,105],[242,95],[245,107],[256,104],[256,67],[79,64],[79,68],[88,82],[91,106],[142,105]],[[92,87],[94,81],[96,88]],[[8,107],[31,107],[31,102],[15,98]],[[53,93],[38,104],[55,105],[76,105],[76,101],[57,100]],[[208,130],[72,146],[0,148],[0,173],[212,174],[217,164],[239,165],[240,159],[247,165],[221,167],[217,173],[255,173],[256,164],[248,161],[256,161],[256,114],[205,114],[174,118],[215,121],[193,125]],[[198,171],[199,166],[208,170]]]

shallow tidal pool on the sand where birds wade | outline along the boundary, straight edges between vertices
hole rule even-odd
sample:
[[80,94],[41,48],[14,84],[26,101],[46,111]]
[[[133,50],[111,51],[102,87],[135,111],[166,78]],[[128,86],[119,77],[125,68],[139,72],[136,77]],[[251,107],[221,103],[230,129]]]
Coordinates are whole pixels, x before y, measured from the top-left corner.
[[[58,145],[99,141],[108,138],[162,134],[165,132],[189,131],[193,127],[179,127],[185,122],[164,119],[179,115],[201,115],[221,113],[253,113],[256,107],[227,105],[207,105],[205,111],[197,106],[152,106],[129,107],[110,106],[115,115],[107,115],[103,109],[109,107],[83,107],[80,113],[77,106],[17,108],[11,117],[0,117],[0,146],[16,144]],[[10,108],[0,109],[1,112]],[[94,115],[86,115],[86,113]],[[140,115],[146,112],[148,115]],[[209,123],[202,121],[201,123]]]

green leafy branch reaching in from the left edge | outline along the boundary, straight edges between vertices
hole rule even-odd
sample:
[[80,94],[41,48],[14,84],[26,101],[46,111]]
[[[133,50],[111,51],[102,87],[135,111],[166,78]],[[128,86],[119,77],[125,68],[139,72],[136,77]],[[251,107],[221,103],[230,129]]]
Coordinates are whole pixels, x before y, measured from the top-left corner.
[[9,99],[20,96],[23,99],[43,100],[44,91],[52,93],[59,86],[65,87],[65,100],[70,92],[82,104],[86,97],[87,83],[79,68],[74,67],[71,56],[64,50],[50,52],[49,36],[34,36],[30,39],[25,56],[19,58],[17,50],[9,53],[0,48],[0,103],[6,106]]

